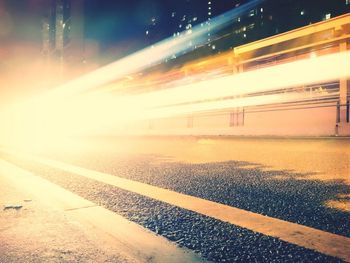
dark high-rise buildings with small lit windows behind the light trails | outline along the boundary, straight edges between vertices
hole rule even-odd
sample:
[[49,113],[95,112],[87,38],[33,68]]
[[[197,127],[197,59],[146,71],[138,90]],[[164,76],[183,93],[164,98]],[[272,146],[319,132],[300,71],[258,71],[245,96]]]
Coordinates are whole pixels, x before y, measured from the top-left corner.
[[[191,34],[195,25],[207,27],[206,43],[201,45],[200,51],[191,54],[197,58],[350,12],[349,0],[266,0],[234,19],[221,31],[212,32],[210,24],[213,17],[246,2],[244,0],[177,1],[163,16],[150,18],[145,30],[147,43],[156,43],[169,35],[177,38],[181,37],[181,34]],[[188,46],[192,47],[192,50],[199,48],[190,42]]]

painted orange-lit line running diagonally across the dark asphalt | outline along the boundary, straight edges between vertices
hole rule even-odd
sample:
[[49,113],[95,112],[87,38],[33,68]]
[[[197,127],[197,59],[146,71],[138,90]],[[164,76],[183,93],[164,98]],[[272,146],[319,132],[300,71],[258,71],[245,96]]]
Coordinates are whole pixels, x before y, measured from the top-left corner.
[[345,236],[55,160],[27,158],[350,262],[350,238]]

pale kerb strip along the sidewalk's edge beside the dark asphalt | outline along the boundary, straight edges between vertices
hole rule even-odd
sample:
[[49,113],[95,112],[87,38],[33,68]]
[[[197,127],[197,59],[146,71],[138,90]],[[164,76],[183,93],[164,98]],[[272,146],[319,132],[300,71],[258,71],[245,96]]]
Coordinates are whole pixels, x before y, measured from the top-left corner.
[[90,234],[99,242],[121,251],[130,262],[203,262],[192,251],[179,248],[166,238],[1,159],[0,176],[22,192],[75,219],[93,231]]

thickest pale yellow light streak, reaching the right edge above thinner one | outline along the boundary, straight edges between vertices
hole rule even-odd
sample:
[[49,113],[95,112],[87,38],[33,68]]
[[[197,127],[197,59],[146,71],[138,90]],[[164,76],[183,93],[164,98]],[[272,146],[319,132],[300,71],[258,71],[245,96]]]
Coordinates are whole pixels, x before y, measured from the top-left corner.
[[148,107],[188,103],[322,83],[350,76],[350,52],[290,62],[140,95]]

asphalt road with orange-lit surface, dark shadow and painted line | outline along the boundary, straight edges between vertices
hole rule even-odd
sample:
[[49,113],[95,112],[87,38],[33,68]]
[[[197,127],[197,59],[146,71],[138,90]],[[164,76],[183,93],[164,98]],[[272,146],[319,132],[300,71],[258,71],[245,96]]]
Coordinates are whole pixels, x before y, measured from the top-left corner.
[[105,137],[0,157],[203,260],[342,262],[349,149],[338,138]]

